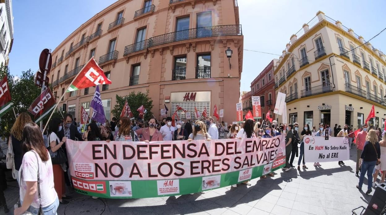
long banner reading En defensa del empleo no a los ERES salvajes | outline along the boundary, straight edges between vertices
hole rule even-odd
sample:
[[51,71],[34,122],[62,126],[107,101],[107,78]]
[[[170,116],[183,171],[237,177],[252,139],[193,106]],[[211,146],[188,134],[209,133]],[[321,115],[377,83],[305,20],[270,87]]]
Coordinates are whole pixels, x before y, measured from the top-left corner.
[[66,141],[74,190],[102,198],[197,193],[285,165],[285,136],[160,142]]

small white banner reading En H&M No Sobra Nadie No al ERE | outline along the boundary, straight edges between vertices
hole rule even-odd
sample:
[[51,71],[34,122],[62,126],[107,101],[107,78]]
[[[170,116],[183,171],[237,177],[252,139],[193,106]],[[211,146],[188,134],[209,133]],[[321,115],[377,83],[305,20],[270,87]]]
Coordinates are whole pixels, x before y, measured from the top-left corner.
[[330,162],[349,160],[349,140],[344,137],[304,137],[304,160],[307,162]]

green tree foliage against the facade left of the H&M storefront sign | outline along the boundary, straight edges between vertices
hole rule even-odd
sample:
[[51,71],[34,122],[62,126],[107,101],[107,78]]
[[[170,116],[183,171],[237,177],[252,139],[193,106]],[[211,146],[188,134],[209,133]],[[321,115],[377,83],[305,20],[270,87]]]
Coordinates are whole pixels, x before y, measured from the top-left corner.
[[151,100],[151,98],[149,97],[149,92],[131,92],[129,95],[123,97],[116,95],[116,100],[117,104],[112,110],[112,115],[116,118],[120,117],[120,113],[122,112],[122,108],[125,105],[126,100],[135,118],[138,118],[139,116],[139,112],[137,111],[137,109],[141,107],[141,105],[143,105],[147,110],[147,113],[145,114],[145,120],[153,116],[153,113],[151,112],[153,108],[153,100]]

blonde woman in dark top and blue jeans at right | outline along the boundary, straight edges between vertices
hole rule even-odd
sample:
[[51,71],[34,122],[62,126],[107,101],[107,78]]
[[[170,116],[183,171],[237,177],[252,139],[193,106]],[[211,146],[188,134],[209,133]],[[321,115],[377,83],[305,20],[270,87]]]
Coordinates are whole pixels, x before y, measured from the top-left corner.
[[362,190],[362,184],[364,180],[364,174],[367,172],[367,191],[366,194],[372,192],[372,171],[377,165],[377,161],[380,162],[381,158],[381,148],[378,143],[378,136],[374,129],[371,129],[366,137],[366,142],[364,143],[363,151],[361,154],[362,167],[361,167],[361,177],[359,177],[359,184],[356,186],[358,190]]

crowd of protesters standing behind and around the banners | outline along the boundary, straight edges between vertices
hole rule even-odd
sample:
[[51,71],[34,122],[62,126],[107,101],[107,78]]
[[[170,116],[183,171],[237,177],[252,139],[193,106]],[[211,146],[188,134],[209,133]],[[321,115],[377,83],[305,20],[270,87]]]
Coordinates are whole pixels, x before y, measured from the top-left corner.
[[[173,124],[175,126],[173,126]],[[222,138],[273,138],[284,134],[286,143],[286,164],[284,172],[288,172],[295,166],[293,161],[298,157],[297,170],[308,169],[304,158],[304,140],[307,135],[324,136],[326,129],[328,135],[334,132],[335,137],[349,139],[350,147],[356,141],[357,165],[356,176],[359,177],[357,188],[362,189],[364,176],[367,173],[369,184],[367,194],[371,188],[376,186],[376,179],[379,172],[382,174],[381,183],[384,182],[386,175],[386,135],[380,129],[368,129],[364,124],[361,130],[354,136],[354,131],[348,125],[341,126],[335,124],[334,129],[329,125],[320,124],[319,128],[306,124],[299,128],[298,123],[289,125],[278,124],[276,120],[261,127],[260,122],[248,119],[243,123],[234,123],[226,127],[224,122],[218,122],[212,117],[190,122],[186,118],[181,121],[173,122],[171,117],[163,118],[158,121],[156,118],[146,120],[132,120],[128,117],[119,119],[113,117],[112,121],[106,120],[103,124],[90,122],[83,126],[78,126],[76,119],[71,114],[64,115],[64,119],[53,118],[44,135],[41,135],[39,126],[32,122],[29,114],[21,113],[11,128],[8,138],[8,153],[12,158],[12,176],[17,179],[20,186],[19,207],[14,211],[15,214],[23,214],[29,211],[37,214],[41,207],[44,214],[56,214],[59,204],[67,204],[71,199],[66,195],[66,190],[71,188],[68,175],[69,164],[67,162],[66,140],[77,141],[178,141],[178,140],[215,140]],[[301,130],[302,129],[302,130]],[[2,138],[6,142],[5,138]],[[300,152],[299,152],[300,148]],[[302,164],[302,165],[300,165]],[[314,163],[314,167],[320,163]],[[344,165],[339,161],[339,165]],[[9,211],[3,190],[6,188],[5,176],[3,171],[8,167],[0,165],[0,203],[7,213]],[[9,167],[8,167],[9,168]],[[360,174],[359,174],[360,172]],[[38,173],[40,178],[37,177]],[[274,176],[269,173],[261,178]],[[373,183],[371,183],[373,182]],[[251,182],[243,182],[251,185]],[[40,187],[39,187],[40,186]],[[67,189],[66,189],[67,187]],[[232,185],[237,187],[237,185]],[[193,193],[191,193],[193,194]],[[41,196],[41,202],[39,202]],[[97,198],[97,197],[94,197]]]

